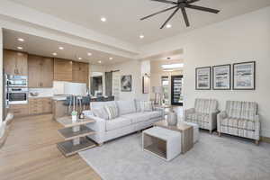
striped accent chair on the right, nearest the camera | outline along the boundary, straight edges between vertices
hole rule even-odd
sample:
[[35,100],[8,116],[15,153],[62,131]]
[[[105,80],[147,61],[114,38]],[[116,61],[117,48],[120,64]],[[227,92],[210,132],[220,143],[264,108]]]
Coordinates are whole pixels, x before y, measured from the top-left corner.
[[247,139],[260,139],[260,121],[257,103],[227,101],[226,110],[218,114],[218,132]]

